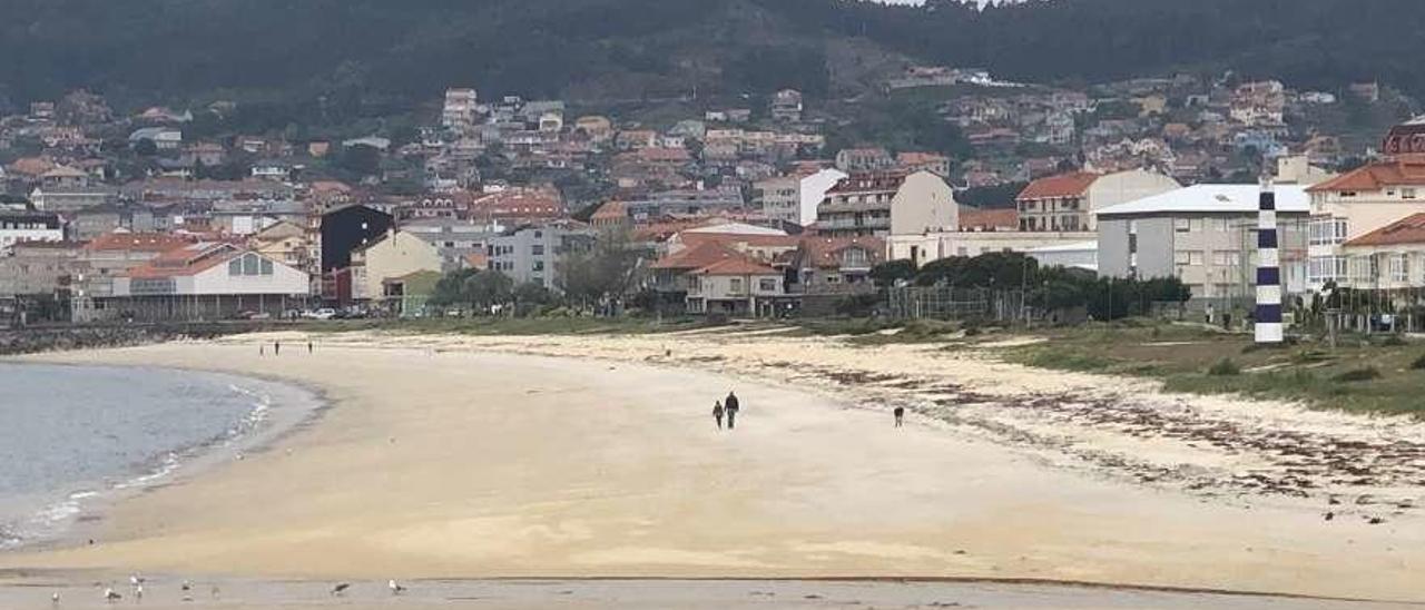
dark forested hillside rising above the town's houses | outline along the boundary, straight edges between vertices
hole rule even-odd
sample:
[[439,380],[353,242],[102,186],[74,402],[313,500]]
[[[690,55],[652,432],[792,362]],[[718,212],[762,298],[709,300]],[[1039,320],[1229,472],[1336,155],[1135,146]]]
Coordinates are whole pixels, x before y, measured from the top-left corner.
[[1425,91],[1419,0],[0,0],[0,101],[864,90],[902,57],[1007,78],[1234,68]]

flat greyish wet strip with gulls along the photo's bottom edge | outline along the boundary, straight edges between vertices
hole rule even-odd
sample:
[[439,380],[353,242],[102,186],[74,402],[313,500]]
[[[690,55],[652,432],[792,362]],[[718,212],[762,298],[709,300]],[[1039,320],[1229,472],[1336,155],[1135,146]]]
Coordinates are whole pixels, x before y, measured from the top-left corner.
[[[544,610],[819,610],[819,609],[1131,609],[1131,610],[1388,610],[1412,606],[1311,599],[1280,599],[1214,593],[1114,590],[1076,586],[929,581],[807,581],[807,580],[422,580],[392,596],[386,583],[353,581],[342,596],[332,583],[222,580],[194,583],[185,593],[172,581],[150,581],[142,604],[130,587],[117,604],[100,597],[103,587],[0,587],[0,607],[43,610],[58,591],[66,609],[140,606],[147,610],[194,607],[296,610],[339,607],[385,609],[502,609]],[[218,586],[214,596],[212,587]],[[1419,606],[1414,606],[1419,607]]]

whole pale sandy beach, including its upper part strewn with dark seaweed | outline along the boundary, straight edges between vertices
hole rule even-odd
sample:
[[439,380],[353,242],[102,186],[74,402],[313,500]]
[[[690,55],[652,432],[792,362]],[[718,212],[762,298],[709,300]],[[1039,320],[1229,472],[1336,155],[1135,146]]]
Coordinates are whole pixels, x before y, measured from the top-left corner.
[[[281,356],[259,355],[278,338]],[[4,580],[41,584],[0,587],[0,600],[51,583],[78,596],[131,572],[1033,579],[1425,600],[1425,520],[1412,507],[1425,432],[1405,420],[775,332],[346,334],[321,336],[312,355],[299,341],[37,356],[281,379],[331,408],[241,460],[120,503],[93,546],[0,554]],[[730,389],[744,409],[720,432],[710,409]],[[906,428],[892,426],[895,405],[909,408]],[[1250,442],[1211,442],[1221,422]],[[1347,476],[1355,466],[1341,456],[1355,453],[1371,469]],[[747,601],[745,589],[724,593]],[[636,606],[626,601],[567,607]],[[1146,606],[1176,607],[1159,601]]]

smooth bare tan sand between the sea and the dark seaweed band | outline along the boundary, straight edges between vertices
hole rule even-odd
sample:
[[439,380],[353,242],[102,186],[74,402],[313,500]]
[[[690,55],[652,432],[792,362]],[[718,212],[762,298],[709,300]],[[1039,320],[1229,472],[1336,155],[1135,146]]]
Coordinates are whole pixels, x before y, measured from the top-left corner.
[[[319,593],[388,577],[979,577],[1425,599],[1411,515],[1325,523],[1294,499],[1217,502],[1056,465],[929,413],[895,429],[888,403],[778,382],[779,366],[691,371],[693,339],[678,339],[685,361],[650,363],[640,349],[663,353],[658,341],[608,338],[598,355],[547,338],[353,335],[274,358],[235,338],[46,356],[279,378],[332,408],[269,450],[123,502],[93,547],[0,554],[0,569],[60,570],[76,587],[133,570],[304,579]],[[744,402],[731,433],[710,415],[730,388]],[[0,599],[16,590],[33,591]],[[1134,607],[1094,591],[1097,607]],[[628,607],[589,603],[607,604],[570,607]]]

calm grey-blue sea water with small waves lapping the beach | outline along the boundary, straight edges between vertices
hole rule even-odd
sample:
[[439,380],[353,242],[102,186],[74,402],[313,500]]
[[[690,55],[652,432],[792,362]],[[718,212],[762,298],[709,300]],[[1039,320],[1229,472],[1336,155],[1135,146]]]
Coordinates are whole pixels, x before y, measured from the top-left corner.
[[121,366],[0,363],[0,550],[162,482],[261,426],[275,385]]

